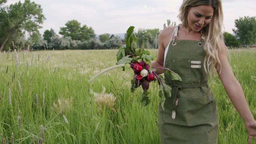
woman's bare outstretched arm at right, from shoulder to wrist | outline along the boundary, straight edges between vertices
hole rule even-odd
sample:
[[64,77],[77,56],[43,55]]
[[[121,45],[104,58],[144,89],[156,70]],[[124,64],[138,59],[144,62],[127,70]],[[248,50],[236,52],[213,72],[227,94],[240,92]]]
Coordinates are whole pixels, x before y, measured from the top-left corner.
[[221,51],[219,53],[219,59],[222,64],[222,70],[217,70],[217,73],[221,79],[221,82],[231,100],[237,109],[240,116],[244,119],[244,122],[254,121],[254,117],[250,111],[250,108],[246,102],[243,89],[240,83],[235,78],[231,67],[228,63],[227,48],[224,43],[219,40]]

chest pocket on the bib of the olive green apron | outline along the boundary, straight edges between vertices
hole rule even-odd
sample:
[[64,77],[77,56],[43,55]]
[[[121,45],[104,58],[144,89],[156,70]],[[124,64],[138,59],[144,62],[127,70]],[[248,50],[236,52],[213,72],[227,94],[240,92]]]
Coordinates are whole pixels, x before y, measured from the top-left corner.
[[190,81],[190,60],[173,60],[173,71],[179,74],[183,81]]

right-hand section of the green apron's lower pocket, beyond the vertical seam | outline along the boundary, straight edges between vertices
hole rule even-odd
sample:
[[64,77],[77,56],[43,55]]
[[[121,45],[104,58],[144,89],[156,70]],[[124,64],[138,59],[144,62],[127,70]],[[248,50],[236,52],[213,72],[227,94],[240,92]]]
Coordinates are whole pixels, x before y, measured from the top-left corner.
[[200,125],[213,117],[212,101],[209,94],[202,98],[187,99],[187,117],[188,125]]

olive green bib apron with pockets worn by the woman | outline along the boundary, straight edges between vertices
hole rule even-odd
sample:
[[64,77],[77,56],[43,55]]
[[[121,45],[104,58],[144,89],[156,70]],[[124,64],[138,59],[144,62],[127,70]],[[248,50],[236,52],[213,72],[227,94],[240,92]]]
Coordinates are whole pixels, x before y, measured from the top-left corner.
[[205,51],[201,41],[176,40],[179,25],[165,49],[164,67],[179,74],[182,82],[164,79],[171,98],[159,103],[158,128],[162,144],[217,144],[219,117],[216,100],[204,71]]

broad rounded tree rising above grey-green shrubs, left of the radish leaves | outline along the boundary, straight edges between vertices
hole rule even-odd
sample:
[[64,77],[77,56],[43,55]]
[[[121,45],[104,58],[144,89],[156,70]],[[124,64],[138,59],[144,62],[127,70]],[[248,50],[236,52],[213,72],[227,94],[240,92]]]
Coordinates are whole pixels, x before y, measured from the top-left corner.
[[70,36],[72,40],[84,41],[96,36],[92,27],[88,28],[87,25],[81,27],[80,22],[77,20],[68,21],[65,25],[66,27],[60,28],[59,33],[65,37]]

